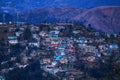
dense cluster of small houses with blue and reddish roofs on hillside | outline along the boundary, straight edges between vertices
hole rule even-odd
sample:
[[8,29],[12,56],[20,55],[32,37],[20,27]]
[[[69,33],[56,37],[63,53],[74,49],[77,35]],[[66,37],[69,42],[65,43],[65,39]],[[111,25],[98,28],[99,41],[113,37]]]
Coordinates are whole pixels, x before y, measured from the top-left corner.
[[[46,27],[46,25],[42,26],[43,28]],[[69,26],[72,26],[73,29],[67,32],[66,29],[70,28]],[[119,50],[119,46],[116,43],[104,43],[104,37],[79,36],[79,34],[85,34],[85,29],[74,29],[73,24],[56,24],[50,27],[49,31],[45,29],[40,30],[41,27],[39,26],[29,25],[32,38],[24,40],[23,35],[27,27],[28,25],[20,27],[8,26],[9,33],[5,33],[7,34],[9,46],[20,44],[25,47],[21,53],[21,59],[24,64],[16,63],[20,68],[25,68],[28,65],[28,60],[39,59],[43,70],[56,75],[58,72],[67,72],[74,69],[75,61],[82,60],[92,63],[101,59],[101,55],[109,56],[112,51]],[[71,35],[66,37],[62,32],[66,32],[66,34],[71,33]],[[100,35],[99,32],[93,32],[93,34],[94,36]],[[75,35],[78,36],[74,37]],[[98,45],[96,46],[95,43],[98,43]],[[29,55],[26,55],[27,52],[29,52]],[[11,61],[15,60],[16,57],[11,58]],[[74,80],[73,77],[72,80]]]

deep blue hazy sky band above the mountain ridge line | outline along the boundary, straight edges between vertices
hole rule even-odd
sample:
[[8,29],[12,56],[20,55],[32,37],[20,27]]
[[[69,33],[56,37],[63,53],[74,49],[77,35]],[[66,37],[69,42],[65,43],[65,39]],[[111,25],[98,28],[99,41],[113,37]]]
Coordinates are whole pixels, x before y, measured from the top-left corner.
[[120,6],[120,0],[0,0],[0,11],[18,12],[40,7],[71,6],[92,8],[97,6]]

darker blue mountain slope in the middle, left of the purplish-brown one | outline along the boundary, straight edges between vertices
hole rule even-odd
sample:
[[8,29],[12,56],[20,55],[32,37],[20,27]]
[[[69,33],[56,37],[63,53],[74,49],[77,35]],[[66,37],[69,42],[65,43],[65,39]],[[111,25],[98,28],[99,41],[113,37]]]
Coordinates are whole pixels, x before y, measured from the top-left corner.
[[38,23],[41,21],[57,22],[71,21],[76,15],[82,14],[87,9],[74,7],[47,7],[30,10],[22,13],[20,16],[22,21],[30,23]]

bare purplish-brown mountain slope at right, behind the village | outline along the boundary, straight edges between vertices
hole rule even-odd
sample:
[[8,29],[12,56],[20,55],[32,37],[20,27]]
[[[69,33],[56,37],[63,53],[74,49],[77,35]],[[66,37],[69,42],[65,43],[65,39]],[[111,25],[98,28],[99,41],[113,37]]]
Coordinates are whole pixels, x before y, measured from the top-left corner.
[[76,21],[91,24],[104,32],[120,32],[120,7],[106,6],[89,9],[81,15],[74,17]]

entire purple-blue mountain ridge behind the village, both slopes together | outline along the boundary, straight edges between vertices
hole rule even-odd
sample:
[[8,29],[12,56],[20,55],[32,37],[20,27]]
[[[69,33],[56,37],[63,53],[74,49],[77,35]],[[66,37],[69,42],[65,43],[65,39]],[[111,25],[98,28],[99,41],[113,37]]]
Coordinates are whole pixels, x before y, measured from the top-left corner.
[[73,7],[47,7],[22,13],[22,21],[38,23],[41,21],[77,21],[104,32],[120,32],[120,7],[103,6],[91,9]]

